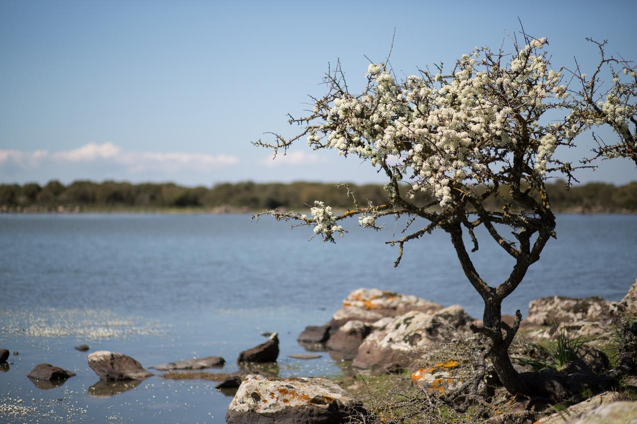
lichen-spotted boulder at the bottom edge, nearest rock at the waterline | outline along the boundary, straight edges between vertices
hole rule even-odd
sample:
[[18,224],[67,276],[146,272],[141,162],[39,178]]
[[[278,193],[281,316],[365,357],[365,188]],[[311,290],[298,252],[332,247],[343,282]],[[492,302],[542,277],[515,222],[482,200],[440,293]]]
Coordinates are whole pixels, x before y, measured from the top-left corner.
[[361,402],[322,378],[268,379],[250,374],[241,383],[225,420],[238,423],[346,423],[364,415]]

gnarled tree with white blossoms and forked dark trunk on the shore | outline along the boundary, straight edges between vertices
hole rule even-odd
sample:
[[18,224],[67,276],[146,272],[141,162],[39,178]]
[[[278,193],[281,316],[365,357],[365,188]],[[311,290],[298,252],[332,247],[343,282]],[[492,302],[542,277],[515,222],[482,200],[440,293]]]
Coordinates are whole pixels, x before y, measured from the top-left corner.
[[[349,92],[337,64],[326,74],[327,94],[313,98],[311,113],[290,117],[290,124],[301,126],[297,136],[273,134],[273,142],[254,144],[273,148],[276,155],[306,138],[314,150],[333,149],[378,167],[388,180],[385,204],[360,205],[348,189],[354,208],[341,215],[320,201],[311,208],[311,216],[264,213],[311,226],[315,236],[331,242],[347,232],[341,223],[351,216],[358,216],[358,224],[369,229],[379,228],[376,220],[381,216],[405,216],[405,235],[387,241],[398,247],[394,266],[409,241],[435,228],[444,230],[469,283],[483,299],[483,324],[473,330],[486,336],[485,356],[503,385],[510,393],[555,397],[559,381],[513,368],[508,348],[521,315],[517,311],[515,322],[508,325],[502,320],[501,304],[540,259],[548,239],[555,237],[545,181],[549,174],[559,173],[570,182],[575,169],[555,159],[555,149],[572,146],[592,123],[612,120],[613,128],[623,127],[612,111],[605,113],[604,107],[587,99],[574,102],[567,85],[562,85],[562,69],[550,66],[546,45],[547,39],[524,34],[524,43],[514,43],[515,53],[476,47],[448,72],[441,64],[402,81],[387,61],[370,64],[361,94]],[[595,77],[581,78],[589,83],[583,93],[593,99]],[[571,113],[575,103],[579,107]],[[562,118],[555,120],[556,116]],[[432,200],[417,204],[415,196],[421,192]],[[498,197],[502,208],[487,208],[490,197]],[[410,230],[419,218],[424,225]],[[468,249],[478,250],[475,229],[480,226],[515,260],[505,281],[485,281],[471,262]],[[505,237],[506,227],[513,229],[513,237]],[[464,234],[471,239],[469,247]]]

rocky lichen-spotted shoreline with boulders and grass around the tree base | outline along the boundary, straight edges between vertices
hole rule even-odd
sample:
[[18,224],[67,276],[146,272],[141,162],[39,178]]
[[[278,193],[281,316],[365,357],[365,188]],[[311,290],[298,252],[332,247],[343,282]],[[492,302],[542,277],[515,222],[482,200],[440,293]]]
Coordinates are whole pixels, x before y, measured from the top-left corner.
[[[450,409],[446,400],[481,366],[478,336],[469,329],[480,321],[458,305],[443,307],[377,288],[350,292],[329,322],[308,326],[299,334],[297,341],[308,353],[289,355],[312,360],[326,352],[345,365],[342,378],[278,378],[269,371],[280,354],[276,333],[264,334],[267,341],[242,351],[237,358],[240,371],[231,374],[208,371],[224,366],[224,358],[217,356],[148,368],[164,372],[161,378],[208,379],[218,381],[216,387],[226,394],[236,392],[225,417],[229,423],[420,422],[423,416],[431,422],[492,423],[615,422],[612,417],[620,416],[616,422],[626,422],[628,418],[637,420],[637,403],[633,402],[637,378],[622,380],[615,387],[619,392],[601,390],[605,386],[590,381],[596,376],[601,379],[612,367],[618,329],[625,320],[634,322],[636,316],[637,281],[619,302],[559,296],[530,302],[510,355],[519,372],[543,364],[569,381],[582,382],[582,395],[561,404],[512,397],[487,368],[479,387],[483,404],[465,413]],[[554,343],[556,337],[575,343],[576,360],[550,363],[543,346]],[[76,349],[90,350],[87,345]],[[0,366],[9,357],[10,351],[0,349]],[[87,360],[100,378],[89,388],[95,397],[131,390],[154,375],[123,353],[96,351]],[[28,374],[44,389],[62,385],[73,376],[50,364],[38,364]]]

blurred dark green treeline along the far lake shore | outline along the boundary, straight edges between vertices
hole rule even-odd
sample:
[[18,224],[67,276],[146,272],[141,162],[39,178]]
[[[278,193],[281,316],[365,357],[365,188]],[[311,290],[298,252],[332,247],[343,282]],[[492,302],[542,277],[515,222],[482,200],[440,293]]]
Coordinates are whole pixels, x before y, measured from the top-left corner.
[[[382,204],[386,193],[382,185],[350,185],[359,204]],[[552,207],[557,212],[635,213],[637,181],[617,187],[606,183],[577,185],[567,190],[557,180],[547,185]],[[506,191],[501,190],[503,197]],[[117,211],[150,209],[201,209],[208,211],[255,211],[260,209],[307,209],[321,200],[334,208],[352,207],[345,188],[334,184],[308,183],[222,183],[207,187],[181,187],[173,183],[131,184],[104,181],[75,181],[63,185],[50,181],[44,187],[36,183],[0,185],[0,211]],[[424,203],[422,195],[415,199]],[[490,206],[502,199],[493,197]]]

